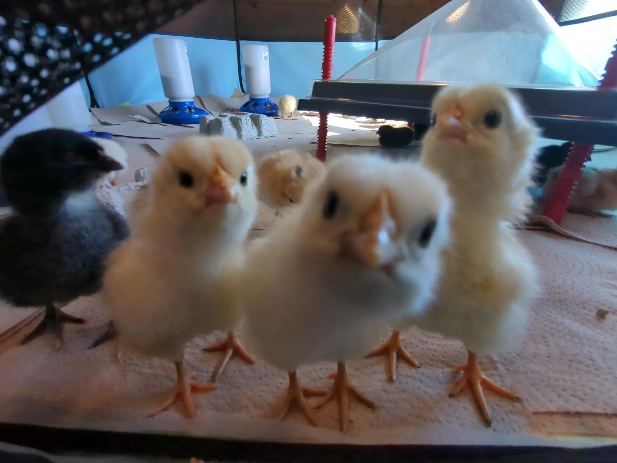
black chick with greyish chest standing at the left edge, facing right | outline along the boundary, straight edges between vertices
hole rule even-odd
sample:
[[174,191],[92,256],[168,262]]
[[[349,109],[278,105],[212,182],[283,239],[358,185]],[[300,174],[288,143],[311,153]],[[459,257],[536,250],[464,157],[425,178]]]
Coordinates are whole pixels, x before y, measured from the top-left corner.
[[128,236],[123,217],[96,197],[97,181],[122,169],[97,143],[70,130],[15,138],[0,157],[0,183],[13,215],[0,221],[0,298],[44,306],[45,317],[23,343],[63,323],[85,320],[59,306],[101,289],[107,256]]

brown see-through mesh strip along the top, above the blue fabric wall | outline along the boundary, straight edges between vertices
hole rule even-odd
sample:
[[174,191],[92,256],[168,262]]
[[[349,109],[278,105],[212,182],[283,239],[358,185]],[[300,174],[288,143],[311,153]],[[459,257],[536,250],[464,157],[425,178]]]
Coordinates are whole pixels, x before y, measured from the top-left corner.
[[[317,41],[336,17],[336,40],[391,40],[449,0],[206,0],[162,33],[254,41]],[[557,14],[563,0],[541,0]],[[490,27],[490,25],[487,25]]]

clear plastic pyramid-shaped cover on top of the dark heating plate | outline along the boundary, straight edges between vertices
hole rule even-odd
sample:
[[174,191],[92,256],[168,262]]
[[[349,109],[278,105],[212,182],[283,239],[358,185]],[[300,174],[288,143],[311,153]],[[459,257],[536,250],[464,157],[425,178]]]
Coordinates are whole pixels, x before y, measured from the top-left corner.
[[452,0],[341,80],[596,86],[537,0]]

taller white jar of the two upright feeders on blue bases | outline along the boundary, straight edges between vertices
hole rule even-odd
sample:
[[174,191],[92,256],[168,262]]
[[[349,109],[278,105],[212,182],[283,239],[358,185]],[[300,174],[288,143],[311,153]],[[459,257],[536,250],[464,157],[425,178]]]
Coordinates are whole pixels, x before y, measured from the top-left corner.
[[169,101],[193,101],[195,88],[186,42],[176,37],[154,39],[160,80]]

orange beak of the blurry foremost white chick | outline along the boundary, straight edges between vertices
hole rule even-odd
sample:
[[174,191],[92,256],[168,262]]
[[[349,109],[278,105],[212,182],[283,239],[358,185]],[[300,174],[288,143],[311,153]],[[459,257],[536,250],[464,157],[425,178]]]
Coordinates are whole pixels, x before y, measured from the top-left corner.
[[382,191],[360,217],[358,230],[342,237],[342,256],[371,269],[386,269],[402,259],[396,243],[399,225],[392,198]]

